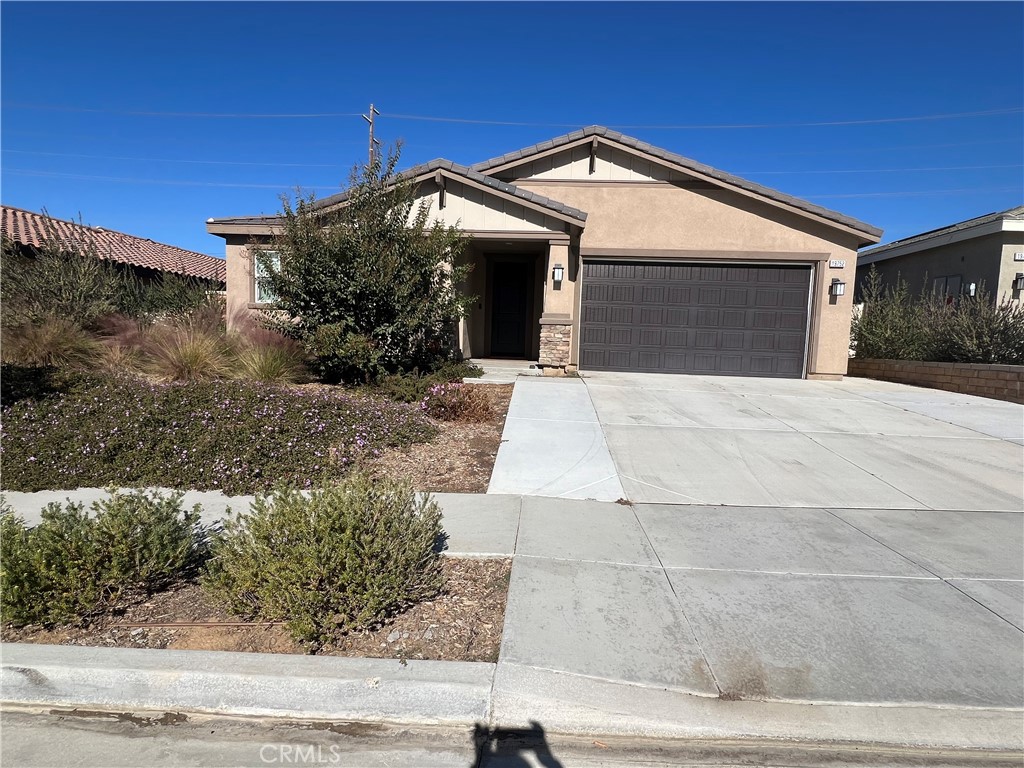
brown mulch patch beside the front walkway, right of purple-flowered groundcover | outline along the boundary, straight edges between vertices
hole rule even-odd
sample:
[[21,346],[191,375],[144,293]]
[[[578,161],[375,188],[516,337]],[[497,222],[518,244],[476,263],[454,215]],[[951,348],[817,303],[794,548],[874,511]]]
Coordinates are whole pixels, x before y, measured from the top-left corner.
[[494,418],[484,423],[436,421],[440,430],[430,442],[391,449],[367,461],[371,474],[406,477],[417,490],[484,494],[502,441],[512,384],[467,384],[486,393]]

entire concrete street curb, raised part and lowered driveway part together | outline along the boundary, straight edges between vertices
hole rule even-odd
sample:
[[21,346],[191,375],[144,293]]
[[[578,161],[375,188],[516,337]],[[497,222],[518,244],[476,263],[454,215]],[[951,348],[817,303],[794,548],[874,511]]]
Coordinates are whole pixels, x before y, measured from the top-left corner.
[[1024,710],[730,701],[516,664],[0,644],[30,707],[1024,754]]

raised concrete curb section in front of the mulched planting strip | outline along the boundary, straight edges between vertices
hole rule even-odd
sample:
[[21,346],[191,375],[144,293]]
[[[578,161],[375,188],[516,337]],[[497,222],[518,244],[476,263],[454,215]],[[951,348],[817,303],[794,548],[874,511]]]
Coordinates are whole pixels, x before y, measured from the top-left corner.
[[0,645],[7,703],[473,725],[495,665],[271,653]]

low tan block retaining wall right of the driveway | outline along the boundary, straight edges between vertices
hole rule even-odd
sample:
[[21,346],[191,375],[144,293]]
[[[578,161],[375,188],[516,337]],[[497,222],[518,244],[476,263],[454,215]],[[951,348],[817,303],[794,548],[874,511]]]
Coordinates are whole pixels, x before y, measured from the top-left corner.
[[1024,403],[1024,366],[850,358],[847,376]]

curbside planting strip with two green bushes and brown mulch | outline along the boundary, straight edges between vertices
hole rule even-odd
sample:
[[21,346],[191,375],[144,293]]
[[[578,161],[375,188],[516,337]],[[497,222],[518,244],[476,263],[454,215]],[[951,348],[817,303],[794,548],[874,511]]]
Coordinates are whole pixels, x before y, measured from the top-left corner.
[[0,516],[2,639],[494,660],[510,563],[440,554],[440,510],[356,473],[257,497],[223,525],[180,495]]

